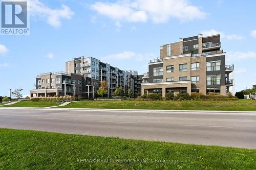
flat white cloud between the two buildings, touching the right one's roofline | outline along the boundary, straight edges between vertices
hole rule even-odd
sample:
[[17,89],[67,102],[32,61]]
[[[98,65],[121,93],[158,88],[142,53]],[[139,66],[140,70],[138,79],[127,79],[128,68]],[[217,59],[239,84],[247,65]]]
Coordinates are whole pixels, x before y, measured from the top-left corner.
[[108,55],[106,57],[103,57],[103,60],[136,60],[136,61],[147,61],[150,60],[151,58],[155,58],[155,55],[150,53],[150,54],[136,54],[134,52],[130,51],[124,51],[122,53],[117,53],[117,54],[112,54]]

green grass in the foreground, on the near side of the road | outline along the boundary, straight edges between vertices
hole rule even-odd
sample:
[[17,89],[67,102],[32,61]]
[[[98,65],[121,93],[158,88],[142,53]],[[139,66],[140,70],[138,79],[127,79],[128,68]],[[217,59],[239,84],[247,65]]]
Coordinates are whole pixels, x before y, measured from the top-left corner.
[[255,160],[240,148],[0,129],[0,169],[256,169]]

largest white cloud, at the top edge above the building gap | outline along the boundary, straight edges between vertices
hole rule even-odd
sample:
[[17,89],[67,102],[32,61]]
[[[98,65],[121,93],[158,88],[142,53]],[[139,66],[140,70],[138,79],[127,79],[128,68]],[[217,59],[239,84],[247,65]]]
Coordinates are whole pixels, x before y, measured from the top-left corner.
[[92,9],[98,14],[115,21],[146,22],[148,19],[155,23],[167,22],[170,17],[182,21],[204,18],[206,13],[198,7],[189,5],[186,0],[134,0],[118,1],[116,3],[96,2]]

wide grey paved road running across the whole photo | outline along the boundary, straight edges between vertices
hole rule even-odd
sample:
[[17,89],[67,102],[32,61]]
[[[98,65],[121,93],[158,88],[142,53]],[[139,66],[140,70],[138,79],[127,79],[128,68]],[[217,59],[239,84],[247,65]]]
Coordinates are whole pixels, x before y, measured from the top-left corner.
[[256,112],[0,107],[0,128],[256,149]]

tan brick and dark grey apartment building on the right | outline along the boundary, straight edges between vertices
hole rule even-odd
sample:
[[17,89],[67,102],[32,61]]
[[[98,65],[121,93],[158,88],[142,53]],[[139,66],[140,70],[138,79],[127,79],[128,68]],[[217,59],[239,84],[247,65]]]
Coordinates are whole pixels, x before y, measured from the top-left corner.
[[[220,35],[180,38],[160,46],[160,58],[148,63],[141,94],[208,92],[225,95],[234,86],[234,65],[226,65]],[[232,88],[234,89],[234,88]]]

